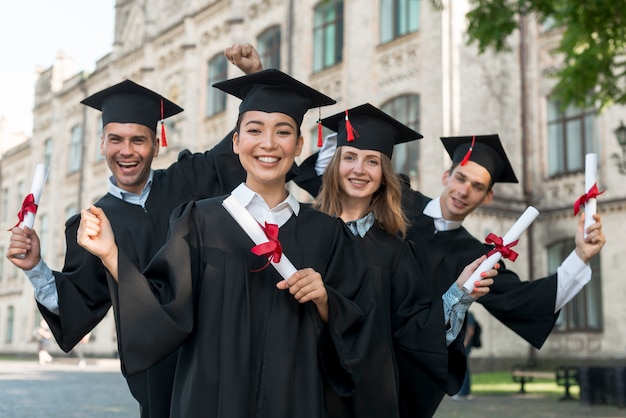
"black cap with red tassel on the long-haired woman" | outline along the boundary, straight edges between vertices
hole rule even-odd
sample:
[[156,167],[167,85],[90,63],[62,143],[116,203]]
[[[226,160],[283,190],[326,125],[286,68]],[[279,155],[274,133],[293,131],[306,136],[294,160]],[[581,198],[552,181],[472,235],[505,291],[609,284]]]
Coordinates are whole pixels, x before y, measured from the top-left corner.
[[324,118],[322,125],[337,132],[337,146],[380,151],[389,158],[394,145],[423,138],[369,103]]

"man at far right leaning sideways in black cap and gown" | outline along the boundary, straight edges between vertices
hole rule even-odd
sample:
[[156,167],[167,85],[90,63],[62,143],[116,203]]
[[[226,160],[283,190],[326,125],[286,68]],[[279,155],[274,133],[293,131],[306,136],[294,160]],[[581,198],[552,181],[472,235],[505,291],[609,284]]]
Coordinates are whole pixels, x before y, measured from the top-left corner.
[[[498,135],[442,138],[442,142],[453,165],[442,176],[444,190],[439,198],[430,199],[406,184],[402,194],[410,225],[407,235],[415,244],[435,294],[443,294],[465,264],[493,248],[463,228],[465,217],[479,205],[491,202],[494,183],[517,182]],[[579,219],[576,249],[556,274],[522,281],[502,262],[489,294],[478,303],[533,347],[541,348],[560,309],[591,279],[589,260],[605,242],[600,216],[595,215],[595,220],[587,238],[583,238],[584,220]],[[461,345],[462,339],[458,340]],[[463,373],[464,355],[450,356],[449,367],[459,375]],[[419,370],[413,379],[420,382],[421,388],[404,393],[403,401],[423,407],[422,416],[432,416],[443,399],[443,391]]]

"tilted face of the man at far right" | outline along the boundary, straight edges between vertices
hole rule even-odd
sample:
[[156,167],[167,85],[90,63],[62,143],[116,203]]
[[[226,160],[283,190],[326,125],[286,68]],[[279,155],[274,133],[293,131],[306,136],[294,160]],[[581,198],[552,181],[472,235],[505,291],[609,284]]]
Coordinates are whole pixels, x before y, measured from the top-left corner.
[[487,205],[493,199],[489,172],[473,161],[446,171],[441,182],[445,186],[441,211],[449,221],[462,221],[479,205]]

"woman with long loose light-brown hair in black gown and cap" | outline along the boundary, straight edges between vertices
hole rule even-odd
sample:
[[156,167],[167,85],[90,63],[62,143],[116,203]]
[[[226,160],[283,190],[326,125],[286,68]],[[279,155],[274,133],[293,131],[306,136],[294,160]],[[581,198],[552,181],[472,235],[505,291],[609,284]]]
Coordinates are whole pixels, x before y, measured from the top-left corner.
[[[375,325],[363,378],[349,397],[327,392],[329,417],[400,416],[399,386],[404,370],[401,356],[428,374],[451,394],[460,382],[448,382],[447,342],[460,332],[469,305],[489,291],[496,270],[485,274],[471,295],[462,285],[484,259],[452,283],[450,295],[463,300],[446,306],[433,300],[430,281],[417,263],[413,247],[403,239],[406,220],[401,209],[401,186],[391,157],[395,144],[416,140],[421,134],[369,103],[322,120],[337,132],[337,149],[323,177],[314,206],[342,219],[367,256],[376,294]],[[448,332],[446,323],[454,323]],[[416,388],[419,389],[419,388]],[[419,414],[419,411],[412,411]]]

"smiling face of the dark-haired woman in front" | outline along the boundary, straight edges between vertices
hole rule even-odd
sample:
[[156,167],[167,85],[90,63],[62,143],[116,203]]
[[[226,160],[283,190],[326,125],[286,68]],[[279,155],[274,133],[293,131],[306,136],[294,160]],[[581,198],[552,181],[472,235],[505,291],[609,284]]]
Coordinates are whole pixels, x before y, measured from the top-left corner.
[[257,110],[241,115],[233,135],[233,150],[246,170],[246,185],[259,194],[284,190],[285,176],[302,152],[298,126],[284,113]]

